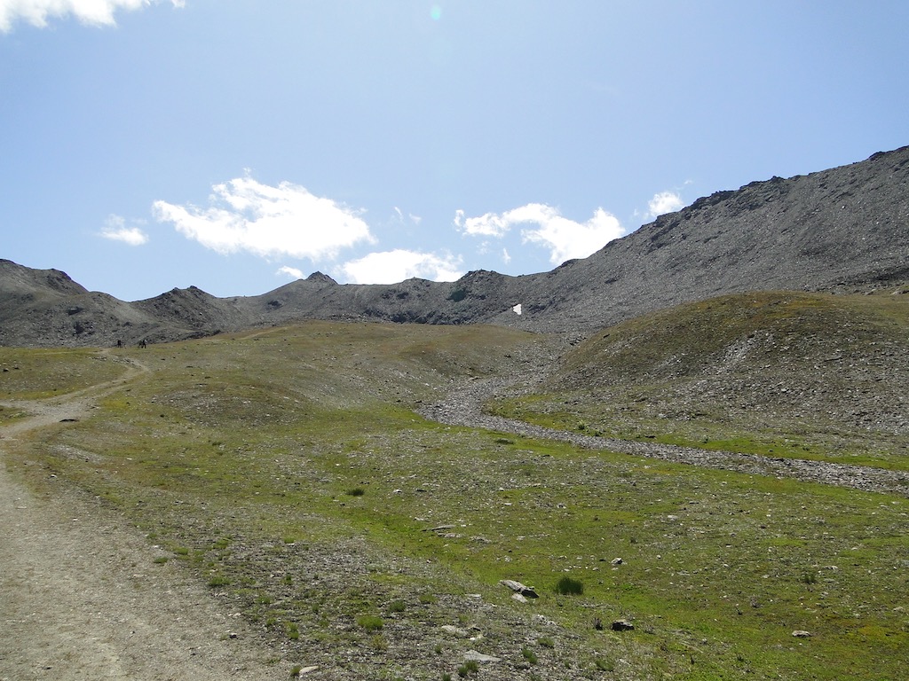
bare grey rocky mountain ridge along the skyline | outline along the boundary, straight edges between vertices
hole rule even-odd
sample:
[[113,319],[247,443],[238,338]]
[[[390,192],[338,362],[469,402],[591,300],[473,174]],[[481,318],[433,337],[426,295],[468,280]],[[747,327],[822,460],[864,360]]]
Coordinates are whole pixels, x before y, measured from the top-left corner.
[[306,318],[587,333],[725,293],[856,291],[904,281],[909,146],[716,192],[589,258],[519,277],[474,271],[455,282],[342,285],[316,272],[260,296],[219,299],[190,287],[130,303],[85,291],[61,271],[0,261],[0,344],[164,341]]

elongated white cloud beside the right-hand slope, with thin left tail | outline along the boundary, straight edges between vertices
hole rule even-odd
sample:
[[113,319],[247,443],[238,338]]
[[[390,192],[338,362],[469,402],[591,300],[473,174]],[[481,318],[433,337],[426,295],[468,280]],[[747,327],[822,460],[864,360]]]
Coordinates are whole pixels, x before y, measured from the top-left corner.
[[522,230],[521,236],[524,242],[548,249],[549,260],[554,264],[572,258],[586,258],[625,233],[618,218],[602,208],[597,208],[587,222],[569,220],[558,209],[544,203],[528,203],[501,214],[487,212],[478,218],[467,218],[464,211],[457,211],[454,215],[454,226],[471,236],[501,238],[518,224],[538,225],[534,229]]

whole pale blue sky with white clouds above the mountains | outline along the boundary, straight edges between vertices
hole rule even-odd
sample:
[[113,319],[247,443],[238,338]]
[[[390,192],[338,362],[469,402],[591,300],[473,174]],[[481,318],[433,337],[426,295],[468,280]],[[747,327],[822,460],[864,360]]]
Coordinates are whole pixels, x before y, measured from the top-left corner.
[[139,300],[548,271],[909,144],[909,3],[0,0],[0,257]]

